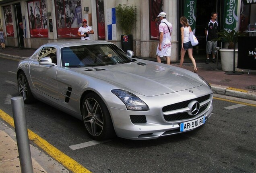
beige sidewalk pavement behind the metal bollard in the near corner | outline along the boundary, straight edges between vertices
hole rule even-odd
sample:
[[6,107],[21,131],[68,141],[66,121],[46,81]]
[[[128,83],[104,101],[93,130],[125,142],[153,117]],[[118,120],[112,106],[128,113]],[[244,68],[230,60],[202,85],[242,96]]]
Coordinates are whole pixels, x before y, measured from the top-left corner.
[[[60,163],[30,145],[33,173],[68,173]],[[15,131],[0,121],[0,173],[21,173]]]

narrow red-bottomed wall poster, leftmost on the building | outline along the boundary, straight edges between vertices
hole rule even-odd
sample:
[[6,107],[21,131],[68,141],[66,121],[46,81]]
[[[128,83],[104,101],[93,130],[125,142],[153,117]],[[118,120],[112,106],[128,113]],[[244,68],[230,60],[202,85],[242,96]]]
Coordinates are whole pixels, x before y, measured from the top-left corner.
[[4,6],[3,8],[4,8],[4,19],[5,19],[5,26],[6,26],[6,35],[7,37],[14,37],[12,12],[11,12],[10,5]]

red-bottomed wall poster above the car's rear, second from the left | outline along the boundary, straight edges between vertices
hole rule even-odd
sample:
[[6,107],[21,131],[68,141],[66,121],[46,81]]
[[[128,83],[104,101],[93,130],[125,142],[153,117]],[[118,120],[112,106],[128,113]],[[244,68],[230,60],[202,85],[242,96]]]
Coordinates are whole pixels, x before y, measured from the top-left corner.
[[48,38],[45,0],[27,2],[31,38]]

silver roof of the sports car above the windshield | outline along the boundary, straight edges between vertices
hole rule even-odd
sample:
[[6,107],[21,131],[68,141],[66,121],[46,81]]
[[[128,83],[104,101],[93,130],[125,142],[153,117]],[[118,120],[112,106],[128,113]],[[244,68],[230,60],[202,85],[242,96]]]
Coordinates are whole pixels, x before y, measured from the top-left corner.
[[54,47],[70,47],[70,46],[82,46],[82,45],[90,45],[90,44],[114,44],[107,41],[102,40],[70,40],[70,41],[63,41],[63,42],[50,42],[43,44],[42,46],[54,46]]

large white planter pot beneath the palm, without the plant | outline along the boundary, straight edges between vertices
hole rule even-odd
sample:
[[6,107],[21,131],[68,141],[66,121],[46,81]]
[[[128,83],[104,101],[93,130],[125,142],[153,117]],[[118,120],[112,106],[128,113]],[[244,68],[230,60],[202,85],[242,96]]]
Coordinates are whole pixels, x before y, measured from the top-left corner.
[[[223,71],[233,71],[234,50],[220,49],[221,52],[221,67]],[[237,49],[235,50],[235,68],[237,68]]]

